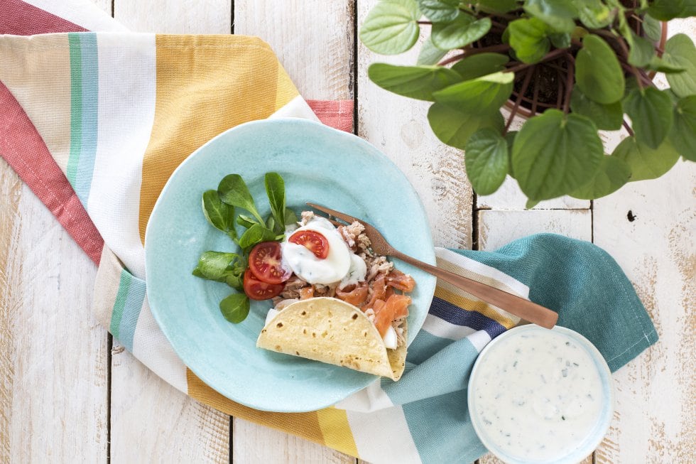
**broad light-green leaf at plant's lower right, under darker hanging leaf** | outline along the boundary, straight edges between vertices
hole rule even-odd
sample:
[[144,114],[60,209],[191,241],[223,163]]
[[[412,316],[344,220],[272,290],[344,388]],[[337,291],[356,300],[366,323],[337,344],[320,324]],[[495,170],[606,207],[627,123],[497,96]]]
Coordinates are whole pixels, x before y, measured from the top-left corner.
[[632,136],[622,140],[611,156],[628,163],[631,168],[631,182],[658,178],[669,171],[679,159],[679,153],[668,140],[658,149],[651,149]]

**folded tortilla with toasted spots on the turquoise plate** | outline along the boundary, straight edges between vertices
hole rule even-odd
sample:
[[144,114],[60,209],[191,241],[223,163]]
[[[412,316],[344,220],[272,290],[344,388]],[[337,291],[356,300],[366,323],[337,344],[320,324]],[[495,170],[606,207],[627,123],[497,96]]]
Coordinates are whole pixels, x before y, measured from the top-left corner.
[[[403,324],[406,338],[406,322]],[[337,298],[308,298],[290,304],[268,321],[256,346],[395,381],[406,365],[406,345],[389,350],[369,318]]]

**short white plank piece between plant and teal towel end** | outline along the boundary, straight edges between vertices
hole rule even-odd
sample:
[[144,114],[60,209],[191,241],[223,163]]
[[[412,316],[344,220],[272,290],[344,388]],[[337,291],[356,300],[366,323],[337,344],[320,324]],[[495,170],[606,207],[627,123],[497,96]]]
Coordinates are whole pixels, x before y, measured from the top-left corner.
[[478,215],[478,249],[493,250],[514,239],[541,232],[592,239],[589,210],[481,210]]

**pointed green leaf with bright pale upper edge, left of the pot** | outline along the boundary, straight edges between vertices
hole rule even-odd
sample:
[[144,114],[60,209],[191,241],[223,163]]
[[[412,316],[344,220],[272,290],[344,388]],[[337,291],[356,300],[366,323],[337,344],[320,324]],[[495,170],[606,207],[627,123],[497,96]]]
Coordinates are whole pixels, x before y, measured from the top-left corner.
[[445,87],[434,92],[433,97],[461,112],[491,114],[509,99],[514,78],[512,72],[494,72]]

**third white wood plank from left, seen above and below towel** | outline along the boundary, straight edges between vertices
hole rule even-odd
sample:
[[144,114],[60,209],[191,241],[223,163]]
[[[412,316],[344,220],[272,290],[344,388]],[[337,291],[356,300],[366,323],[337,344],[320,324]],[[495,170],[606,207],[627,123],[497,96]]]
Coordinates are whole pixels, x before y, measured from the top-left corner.
[[[308,99],[352,99],[354,9],[350,0],[236,0],[234,33],[259,36]],[[234,419],[235,463],[354,463],[335,450]]]

